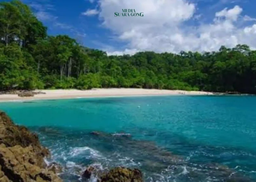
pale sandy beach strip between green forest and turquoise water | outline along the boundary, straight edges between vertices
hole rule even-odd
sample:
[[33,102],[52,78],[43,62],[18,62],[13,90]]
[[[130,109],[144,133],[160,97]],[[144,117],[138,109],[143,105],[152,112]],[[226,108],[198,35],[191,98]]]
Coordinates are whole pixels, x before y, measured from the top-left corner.
[[34,99],[64,99],[64,98],[88,98],[88,97],[122,97],[122,96],[157,96],[157,95],[213,95],[212,92],[183,91],[183,90],[157,90],[157,89],[133,89],[111,88],[92,90],[36,90],[46,94],[38,94],[33,97],[19,97],[18,95],[2,94],[0,102],[23,101]]

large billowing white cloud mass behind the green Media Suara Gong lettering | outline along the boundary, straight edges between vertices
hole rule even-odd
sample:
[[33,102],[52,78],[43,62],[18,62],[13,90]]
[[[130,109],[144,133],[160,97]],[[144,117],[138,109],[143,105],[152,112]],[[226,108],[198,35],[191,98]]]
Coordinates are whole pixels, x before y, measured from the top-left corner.
[[[197,21],[197,7],[188,0],[99,0],[99,18],[118,40],[128,42],[125,50],[109,54],[134,54],[137,51],[175,52],[216,51],[221,45],[234,47],[245,43],[256,48],[256,24],[241,26],[246,20],[242,8],[224,8],[210,23],[187,25]],[[143,17],[114,17],[122,9],[143,12]],[[239,26],[238,26],[239,24]]]

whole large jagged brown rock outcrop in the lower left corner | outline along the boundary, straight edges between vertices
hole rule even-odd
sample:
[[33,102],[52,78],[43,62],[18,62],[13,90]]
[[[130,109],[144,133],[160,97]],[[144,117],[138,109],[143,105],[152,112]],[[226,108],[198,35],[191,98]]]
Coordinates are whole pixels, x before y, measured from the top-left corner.
[[0,111],[1,182],[61,182],[54,171],[46,169],[44,158],[49,156],[36,134],[15,125]]

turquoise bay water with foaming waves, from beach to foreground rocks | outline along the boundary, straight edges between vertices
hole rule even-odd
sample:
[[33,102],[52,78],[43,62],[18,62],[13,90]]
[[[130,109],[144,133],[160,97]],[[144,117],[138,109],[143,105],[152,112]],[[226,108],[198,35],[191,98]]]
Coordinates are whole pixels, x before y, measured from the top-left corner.
[[65,182],[86,181],[79,171],[87,165],[139,168],[146,182],[256,181],[255,96],[77,98],[0,109],[39,134]]

